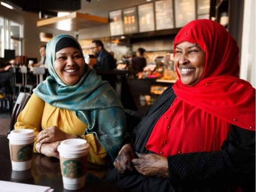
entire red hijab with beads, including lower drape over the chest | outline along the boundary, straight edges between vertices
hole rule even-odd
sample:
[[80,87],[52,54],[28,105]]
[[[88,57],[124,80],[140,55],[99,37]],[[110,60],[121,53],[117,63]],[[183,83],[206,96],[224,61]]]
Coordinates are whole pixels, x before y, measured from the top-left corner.
[[[230,125],[255,131],[255,89],[239,79],[239,48],[219,23],[195,20],[174,40],[192,42],[205,50],[205,67],[198,84],[179,80],[177,98],[155,124],[145,145],[163,156],[220,150]],[[174,49],[175,54],[175,49]],[[170,103],[171,104],[171,103]]]

